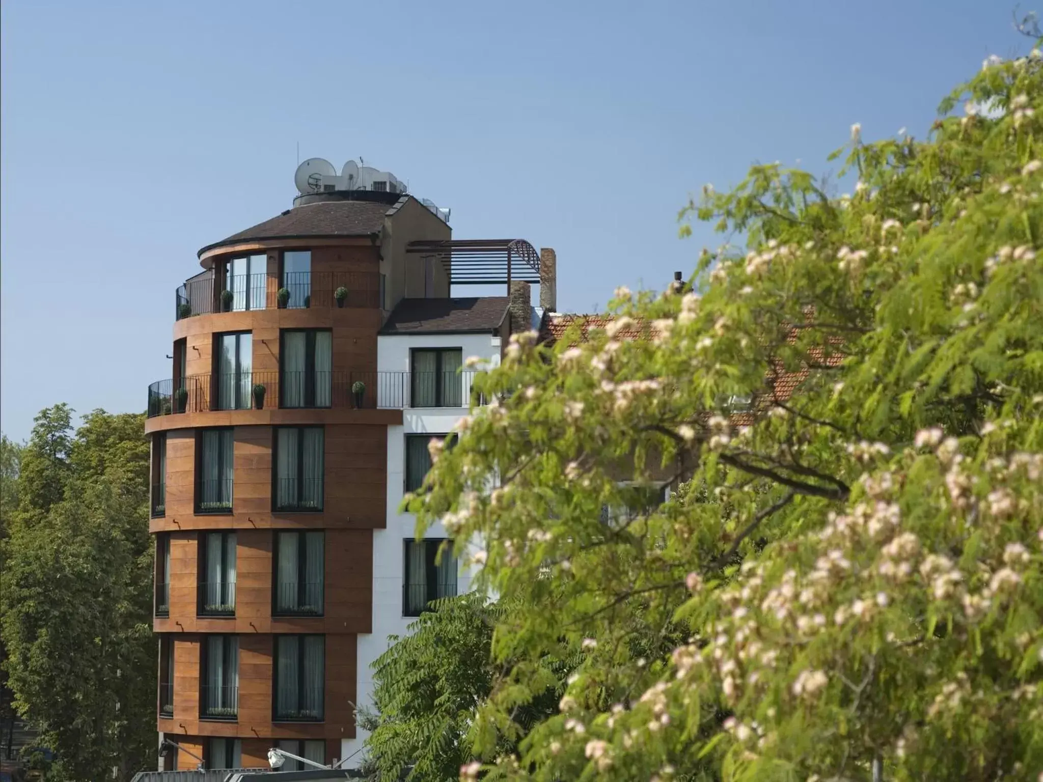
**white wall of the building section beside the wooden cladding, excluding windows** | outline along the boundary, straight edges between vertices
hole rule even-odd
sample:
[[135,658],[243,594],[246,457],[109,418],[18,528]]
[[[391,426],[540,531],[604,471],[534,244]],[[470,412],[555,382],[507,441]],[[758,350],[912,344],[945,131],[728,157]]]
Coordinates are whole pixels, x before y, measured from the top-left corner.
[[[377,341],[377,368],[379,371],[409,371],[410,351],[414,348],[459,347],[466,360],[478,356],[488,361],[487,366],[500,364],[501,338],[491,334],[432,334],[409,336],[381,336]],[[464,367],[464,372],[467,372]],[[461,380],[462,383],[467,383]],[[469,384],[468,384],[469,385]],[[465,385],[462,399],[470,398]],[[403,616],[403,541],[416,534],[416,517],[401,513],[406,485],[406,435],[443,435],[456,426],[467,414],[467,408],[407,408],[403,411],[403,425],[388,426],[387,447],[387,527],[373,530],[373,632],[358,636],[356,682],[357,705],[369,707],[372,703],[372,669],[370,665],[387,651],[388,636],[405,635],[415,617]],[[425,538],[444,538],[445,530],[435,524]],[[457,577],[458,593],[470,589],[471,571],[462,568]],[[356,738],[341,741],[342,758],[350,757],[344,765],[354,767],[362,759],[366,733],[356,729]]]

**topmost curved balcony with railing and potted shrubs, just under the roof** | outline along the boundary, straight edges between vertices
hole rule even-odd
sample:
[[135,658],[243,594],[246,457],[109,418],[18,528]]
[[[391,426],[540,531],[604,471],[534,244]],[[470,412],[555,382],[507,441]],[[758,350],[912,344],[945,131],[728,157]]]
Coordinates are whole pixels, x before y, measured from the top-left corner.
[[[195,315],[251,310],[302,310],[309,308],[381,307],[380,274],[366,272],[290,272],[280,282],[276,275],[239,274],[217,280],[201,275],[177,287],[174,317],[177,320]],[[347,295],[338,301],[335,294],[345,289]],[[281,301],[278,291],[290,294]],[[227,292],[227,294],[225,293]]]

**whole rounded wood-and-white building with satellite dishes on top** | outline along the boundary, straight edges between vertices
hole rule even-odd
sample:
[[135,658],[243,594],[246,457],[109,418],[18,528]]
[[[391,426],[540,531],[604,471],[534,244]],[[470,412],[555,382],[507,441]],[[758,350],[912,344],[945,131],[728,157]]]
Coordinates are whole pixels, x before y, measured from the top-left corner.
[[[360,757],[369,663],[469,578],[435,564],[442,531],[412,540],[403,493],[470,402],[463,360],[554,309],[553,250],[453,240],[447,211],[353,166],[306,161],[293,207],[176,291],[146,423],[168,767]],[[511,295],[451,297],[468,284]]]

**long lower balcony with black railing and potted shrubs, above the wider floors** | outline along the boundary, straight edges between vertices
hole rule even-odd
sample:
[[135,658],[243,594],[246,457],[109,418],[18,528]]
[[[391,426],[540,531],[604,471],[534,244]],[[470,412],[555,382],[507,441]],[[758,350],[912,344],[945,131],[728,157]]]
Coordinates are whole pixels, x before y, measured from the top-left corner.
[[[239,372],[148,387],[148,417],[213,410],[466,408],[475,370],[462,372]],[[443,376],[440,376],[443,375]],[[263,390],[261,390],[263,389]],[[481,404],[480,399],[476,399]]]

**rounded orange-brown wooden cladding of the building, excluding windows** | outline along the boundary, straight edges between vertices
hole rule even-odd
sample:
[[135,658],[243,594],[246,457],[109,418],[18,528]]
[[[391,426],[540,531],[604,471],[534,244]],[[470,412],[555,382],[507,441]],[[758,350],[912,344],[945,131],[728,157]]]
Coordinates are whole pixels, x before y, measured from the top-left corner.
[[[273,246],[277,245],[277,246]],[[370,239],[249,243],[208,253],[204,263],[235,254],[267,254],[267,285],[278,285],[284,248],[311,249],[312,273],[357,273],[372,278],[380,268],[380,246]],[[334,371],[375,372],[379,307],[324,302],[307,309],[215,312],[186,317],[174,325],[177,350],[185,351],[185,374],[214,371],[217,335],[251,334],[251,370],[277,374],[281,332],[322,328],[332,333]],[[180,367],[172,372],[178,380]],[[168,610],[156,615],[154,631],[173,643],[173,711],[159,714],[157,728],[180,747],[204,756],[208,737],[239,738],[244,766],[267,765],[280,739],[324,739],[328,762],[340,741],[355,736],[356,636],[372,629],[372,531],[386,523],[387,426],[402,422],[401,410],[280,409],[202,410],[148,419],[146,432],[165,433],[165,503],[150,531],[169,539]],[[272,502],[274,427],[323,429],[323,503],[319,512],[275,511]],[[228,513],[196,513],[197,442],[201,430],[233,430],[233,500]],[[274,546],[278,531],[323,531],[323,610],[320,616],[273,616]],[[236,532],[235,615],[200,616],[201,535]],[[238,713],[234,718],[201,716],[202,656],[208,634],[239,639]],[[273,650],[281,634],[324,638],[323,718],[286,722],[274,716]],[[198,761],[187,752],[179,768]]]

